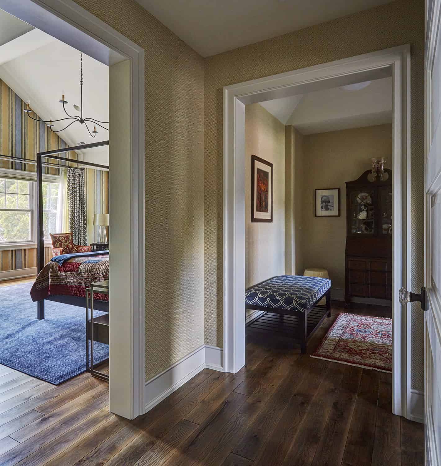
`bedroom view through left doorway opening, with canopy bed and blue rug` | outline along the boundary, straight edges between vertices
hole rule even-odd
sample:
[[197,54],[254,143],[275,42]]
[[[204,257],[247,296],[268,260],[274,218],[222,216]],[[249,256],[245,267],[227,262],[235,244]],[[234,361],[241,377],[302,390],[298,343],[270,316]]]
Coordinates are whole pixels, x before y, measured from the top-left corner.
[[109,146],[96,144],[109,140],[109,67],[4,10],[0,24],[0,364],[30,376],[5,373],[15,396],[90,366],[85,292],[109,280]]

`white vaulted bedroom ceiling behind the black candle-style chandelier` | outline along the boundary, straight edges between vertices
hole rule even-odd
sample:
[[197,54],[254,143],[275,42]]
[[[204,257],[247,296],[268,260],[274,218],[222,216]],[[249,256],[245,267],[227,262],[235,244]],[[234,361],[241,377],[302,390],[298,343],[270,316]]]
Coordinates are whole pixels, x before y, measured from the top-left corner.
[[[68,101],[68,113],[80,115],[73,107],[80,105],[80,52],[38,29],[0,46],[0,78],[22,100],[29,100],[42,119],[66,117],[58,102],[62,94]],[[109,68],[83,54],[83,81],[83,117],[108,121]],[[69,121],[54,123],[54,129],[63,128],[62,123],[65,126]],[[92,138],[84,125],[74,123],[58,134],[71,146],[109,139],[109,131],[97,130],[96,138]],[[98,163],[108,160],[107,147],[88,149],[85,157],[92,152]]]

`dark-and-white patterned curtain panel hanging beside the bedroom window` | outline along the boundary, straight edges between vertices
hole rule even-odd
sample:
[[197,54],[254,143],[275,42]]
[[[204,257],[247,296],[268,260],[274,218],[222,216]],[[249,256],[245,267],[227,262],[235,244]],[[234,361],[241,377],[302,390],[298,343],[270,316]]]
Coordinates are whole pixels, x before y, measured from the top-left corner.
[[69,230],[74,235],[75,244],[86,246],[88,243],[84,170],[67,170]]

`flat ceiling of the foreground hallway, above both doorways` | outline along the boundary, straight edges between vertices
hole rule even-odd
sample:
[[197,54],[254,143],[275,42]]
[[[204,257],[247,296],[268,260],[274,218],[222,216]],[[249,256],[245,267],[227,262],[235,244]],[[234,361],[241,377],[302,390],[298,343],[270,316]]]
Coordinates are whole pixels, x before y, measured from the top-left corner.
[[206,57],[390,0],[136,0]]

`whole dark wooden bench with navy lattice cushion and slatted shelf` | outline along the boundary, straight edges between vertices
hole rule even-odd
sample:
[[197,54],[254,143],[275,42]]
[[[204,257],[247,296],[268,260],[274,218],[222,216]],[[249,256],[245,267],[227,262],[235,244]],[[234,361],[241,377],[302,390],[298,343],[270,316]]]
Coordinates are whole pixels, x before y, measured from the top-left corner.
[[[292,336],[300,343],[301,352],[305,353],[307,340],[325,317],[331,316],[330,289],[331,280],[302,275],[280,275],[258,283],[245,291],[245,308],[293,318],[289,322],[280,322],[271,316],[259,315],[249,325],[282,333],[290,329]],[[318,307],[324,296],[325,308]]]

